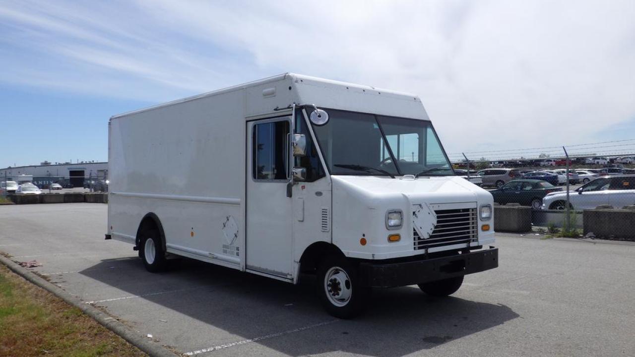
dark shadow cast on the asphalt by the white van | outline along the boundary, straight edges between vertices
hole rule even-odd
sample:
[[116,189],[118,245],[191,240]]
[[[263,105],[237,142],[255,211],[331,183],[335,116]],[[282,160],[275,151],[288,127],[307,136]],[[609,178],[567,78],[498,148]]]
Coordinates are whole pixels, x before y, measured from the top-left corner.
[[[114,264],[117,269],[109,269]],[[190,259],[171,260],[170,270],[160,274],[145,271],[140,259],[102,260],[81,274],[243,339],[337,320],[320,306],[315,279],[308,275],[291,285]],[[160,293],[175,291],[178,293]],[[126,304],[130,302],[126,300]],[[255,343],[291,356],[334,351],[403,356],[518,317],[501,304],[458,297],[432,299],[418,288],[406,286],[373,290],[368,310],[355,320],[297,332],[289,335],[291,341],[277,337]],[[209,335],[194,347],[214,346],[208,340]]]

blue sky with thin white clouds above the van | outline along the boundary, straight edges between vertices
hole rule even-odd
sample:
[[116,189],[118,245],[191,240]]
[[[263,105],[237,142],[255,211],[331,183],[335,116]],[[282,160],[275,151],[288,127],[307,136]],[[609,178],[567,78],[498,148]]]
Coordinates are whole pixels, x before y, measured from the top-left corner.
[[635,138],[633,18],[618,0],[3,1],[0,166],[102,161],[113,114],[283,72],[416,93],[447,152]]

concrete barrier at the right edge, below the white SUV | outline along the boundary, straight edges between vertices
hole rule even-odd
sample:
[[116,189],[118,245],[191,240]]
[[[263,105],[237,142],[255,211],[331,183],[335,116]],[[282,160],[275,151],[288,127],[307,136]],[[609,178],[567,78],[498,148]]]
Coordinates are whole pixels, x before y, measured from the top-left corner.
[[631,208],[594,208],[584,210],[584,234],[597,238],[635,241],[635,210]]

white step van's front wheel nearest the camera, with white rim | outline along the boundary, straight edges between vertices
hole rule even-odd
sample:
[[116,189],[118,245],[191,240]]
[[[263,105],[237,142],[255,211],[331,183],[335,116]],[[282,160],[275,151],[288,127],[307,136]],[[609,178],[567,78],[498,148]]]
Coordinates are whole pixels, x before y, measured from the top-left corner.
[[359,284],[357,267],[344,257],[325,259],[316,280],[320,302],[329,314],[349,319],[366,307],[370,288]]

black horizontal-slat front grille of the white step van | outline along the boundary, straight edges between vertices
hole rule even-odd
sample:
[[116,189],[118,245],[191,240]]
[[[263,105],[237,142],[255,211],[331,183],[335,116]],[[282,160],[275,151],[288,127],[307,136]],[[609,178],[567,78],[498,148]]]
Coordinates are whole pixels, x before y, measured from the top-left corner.
[[437,223],[430,238],[424,239],[413,229],[415,250],[436,246],[470,243],[478,240],[478,216],[476,208],[435,210]]

